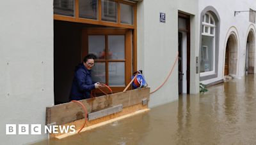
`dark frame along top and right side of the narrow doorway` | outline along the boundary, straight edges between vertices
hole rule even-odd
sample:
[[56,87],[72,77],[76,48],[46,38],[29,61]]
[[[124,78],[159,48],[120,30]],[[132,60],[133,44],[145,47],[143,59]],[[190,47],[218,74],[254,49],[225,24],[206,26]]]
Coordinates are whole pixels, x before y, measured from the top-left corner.
[[187,93],[190,93],[190,15],[187,15],[185,13],[181,13],[179,11],[178,13],[178,20],[179,18],[184,18],[186,19],[186,30],[184,29],[179,29],[179,31],[185,31],[187,32]]

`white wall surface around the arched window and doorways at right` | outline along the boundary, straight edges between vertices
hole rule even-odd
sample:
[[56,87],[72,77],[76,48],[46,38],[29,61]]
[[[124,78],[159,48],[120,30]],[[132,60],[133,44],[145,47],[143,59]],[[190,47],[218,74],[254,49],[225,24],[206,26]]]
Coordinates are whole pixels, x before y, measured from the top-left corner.
[[[238,53],[237,58],[237,76],[236,78],[241,78],[244,76],[244,65],[245,65],[245,49],[246,40],[248,36],[248,28],[252,23],[249,22],[249,12],[239,13],[234,17],[234,11],[248,11],[250,8],[256,10],[256,3],[253,0],[200,0],[198,15],[201,14],[207,6],[213,6],[218,14],[220,15],[220,40],[219,40],[219,64],[218,64],[218,77],[213,79],[208,79],[202,81],[202,83],[208,84],[214,81],[219,81],[223,79],[224,74],[224,61],[225,61],[225,46],[227,43],[228,36],[230,35],[230,29],[234,29],[238,38]],[[200,20],[199,20],[200,21]],[[200,26],[200,24],[198,24]],[[253,29],[255,29],[255,24],[253,24]]]

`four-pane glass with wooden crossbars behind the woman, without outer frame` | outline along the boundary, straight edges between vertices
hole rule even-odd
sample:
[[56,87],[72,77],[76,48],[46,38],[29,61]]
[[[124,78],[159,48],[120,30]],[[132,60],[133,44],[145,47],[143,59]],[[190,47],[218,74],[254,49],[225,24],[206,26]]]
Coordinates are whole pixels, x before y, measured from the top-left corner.
[[[108,46],[105,45],[106,41]],[[93,81],[107,83],[109,86],[125,86],[124,35],[89,35],[88,52],[98,58],[92,69]]]

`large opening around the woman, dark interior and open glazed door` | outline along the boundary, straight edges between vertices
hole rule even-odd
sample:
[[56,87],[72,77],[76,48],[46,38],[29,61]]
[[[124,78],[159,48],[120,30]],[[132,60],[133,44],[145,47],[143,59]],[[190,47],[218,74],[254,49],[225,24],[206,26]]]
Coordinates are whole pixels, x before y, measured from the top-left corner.
[[132,75],[132,39],[131,29],[54,20],[54,104],[69,102],[74,69],[88,53],[98,57],[93,81],[106,83],[113,93],[124,90]]

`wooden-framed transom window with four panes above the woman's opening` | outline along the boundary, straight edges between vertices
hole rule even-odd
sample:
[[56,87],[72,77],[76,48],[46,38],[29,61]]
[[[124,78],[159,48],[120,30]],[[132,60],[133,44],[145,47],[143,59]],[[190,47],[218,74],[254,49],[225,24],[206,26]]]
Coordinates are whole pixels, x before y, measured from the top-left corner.
[[54,20],[134,29],[134,7],[122,0],[54,0]]

